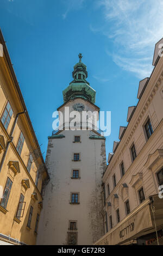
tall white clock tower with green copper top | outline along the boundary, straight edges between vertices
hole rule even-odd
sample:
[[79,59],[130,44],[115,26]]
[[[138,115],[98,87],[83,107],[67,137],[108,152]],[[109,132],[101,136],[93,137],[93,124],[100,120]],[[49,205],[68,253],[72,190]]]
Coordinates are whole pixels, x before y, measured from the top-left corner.
[[[83,111],[99,112],[94,104],[96,92],[86,81],[82,54],[72,74],[74,80],[64,90],[64,104],[58,108],[64,127],[48,137],[46,166],[51,179],[43,196],[37,245],[92,245],[104,234],[105,138],[94,123],[91,130],[82,130],[82,119],[76,122],[75,130],[68,129],[70,123],[67,125],[64,115],[65,109],[80,115]],[[85,124],[89,126],[89,121]]]

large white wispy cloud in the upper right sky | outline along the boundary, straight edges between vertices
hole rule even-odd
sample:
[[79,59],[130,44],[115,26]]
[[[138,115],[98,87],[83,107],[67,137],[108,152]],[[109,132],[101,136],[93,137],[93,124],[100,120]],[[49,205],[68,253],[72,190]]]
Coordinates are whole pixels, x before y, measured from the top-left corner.
[[[97,0],[102,9],[104,26],[101,32],[114,42],[109,52],[114,62],[137,77],[152,71],[154,46],[163,36],[162,0]],[[92,32],[99,29],[90,26]]]

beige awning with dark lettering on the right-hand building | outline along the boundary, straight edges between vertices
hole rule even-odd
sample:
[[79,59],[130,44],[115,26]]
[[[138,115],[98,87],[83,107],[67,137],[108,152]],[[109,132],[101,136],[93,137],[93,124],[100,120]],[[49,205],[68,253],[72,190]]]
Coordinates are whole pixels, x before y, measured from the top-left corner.
[[158,195],[146,199],[124,220],[99,239],[96,245],[121,245],[142,235],[154,232],[154,215],[158,228],[163,227],[163,199]]

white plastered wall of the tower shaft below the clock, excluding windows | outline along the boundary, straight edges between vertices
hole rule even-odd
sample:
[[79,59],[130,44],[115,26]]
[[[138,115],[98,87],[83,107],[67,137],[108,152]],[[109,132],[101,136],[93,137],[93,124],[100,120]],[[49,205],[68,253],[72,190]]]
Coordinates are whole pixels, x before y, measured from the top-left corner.
[[[91,245],[103,233],[101,184],[106,167],[105,141],[90,139],[92,131],[62,131],[65,138],[49,139],[46,164],[51,177],[39,221],[37,244],[67,243],[68,221],[78,221],[78,245]],[[82,143],[73,143],[80,135]],[[73,153],[81,161],[73,162]],[[81,179],[71,179],[71,170],[80,169]],[[79,205],[70,204],[71,192],[79,192]]]

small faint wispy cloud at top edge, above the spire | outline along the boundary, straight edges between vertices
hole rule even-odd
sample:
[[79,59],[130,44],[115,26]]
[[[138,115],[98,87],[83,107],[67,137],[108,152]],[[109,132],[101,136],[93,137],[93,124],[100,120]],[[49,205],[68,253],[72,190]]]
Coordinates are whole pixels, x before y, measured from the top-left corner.
[[64,4],[66,5],[66,11],[64,14],[62,14],[62,18],[66,19],[68,13],[72,10],[78,10],[83,7],[83,3],[85,0],[66,0],[64,1]]

